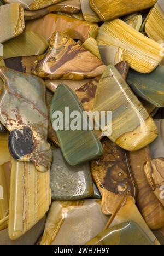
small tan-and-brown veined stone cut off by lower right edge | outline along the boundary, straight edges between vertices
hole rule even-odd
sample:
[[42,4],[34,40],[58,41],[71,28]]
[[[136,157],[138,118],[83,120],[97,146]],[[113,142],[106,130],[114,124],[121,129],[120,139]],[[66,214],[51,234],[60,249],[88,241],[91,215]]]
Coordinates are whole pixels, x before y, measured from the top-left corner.
[[157,199],[164,206],[164,158],[151,159],[144,164],[145,175]]

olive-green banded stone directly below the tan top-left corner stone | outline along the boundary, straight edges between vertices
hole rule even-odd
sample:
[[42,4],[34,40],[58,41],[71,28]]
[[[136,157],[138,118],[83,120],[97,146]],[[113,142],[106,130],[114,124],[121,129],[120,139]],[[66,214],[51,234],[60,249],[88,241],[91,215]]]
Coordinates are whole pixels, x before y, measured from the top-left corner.
[[39,34],[29,31],[22,33],[3,44],[4,59],[19,56],[43,54],[48,48],[48,42]]

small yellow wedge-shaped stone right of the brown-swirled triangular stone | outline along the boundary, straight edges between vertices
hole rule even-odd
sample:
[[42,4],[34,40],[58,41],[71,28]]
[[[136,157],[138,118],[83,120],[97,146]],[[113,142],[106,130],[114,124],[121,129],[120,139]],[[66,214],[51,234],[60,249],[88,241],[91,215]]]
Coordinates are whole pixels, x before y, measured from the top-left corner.
[[88,38],[82,46],[87,50],[90,51],[93,55],[95,55],[99,60],[101,60],[101,56],[99,54],[98,45],[94,38]]

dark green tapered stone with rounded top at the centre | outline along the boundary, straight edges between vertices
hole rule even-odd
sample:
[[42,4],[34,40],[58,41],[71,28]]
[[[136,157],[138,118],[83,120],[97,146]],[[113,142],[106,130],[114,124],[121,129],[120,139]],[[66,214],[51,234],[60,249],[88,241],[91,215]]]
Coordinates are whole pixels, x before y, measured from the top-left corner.
[[[79,117],[75,114],[74,118],[77,119],[77,121],[81,121],[81,126],[77,127],[77,129],[75,127],[75,119],[68,118],[66,107],[69,107],[69,113],[71,114],[74,114],[73,111],[78,111]],[[52,115],[56,111],[63,113],[63,130],[62,127],[58,127],[58,130],[55,128],[55,130],[63,156],[68,164],[75,166],[102,155],[103,148],[96,136],[96,133],[89,129],[82,129],[83,106],[79,102],[75,93],[65,84],[61,84],[57,87],[54,97],[52,98],[50,115],[53,126],[57,119],[53,118]],[[67,118],[65,118],[65,115]],[[88,124],[89,121],[85,119],[84,125],[89,127]]]

